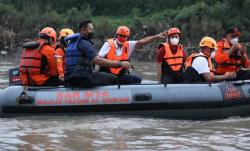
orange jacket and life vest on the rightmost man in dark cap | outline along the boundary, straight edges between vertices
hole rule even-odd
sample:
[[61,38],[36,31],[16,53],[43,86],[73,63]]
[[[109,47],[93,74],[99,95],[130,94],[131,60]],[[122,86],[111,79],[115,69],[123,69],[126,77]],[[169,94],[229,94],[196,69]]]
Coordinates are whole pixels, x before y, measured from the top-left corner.
[[[231,56],[228,56],[227,52],[231,45],[227,42],[226,39],[219,40],[217,42],[218,50],[215,54],[215,62],[216,62],[216,72],[218,74],[225,74],[226,72],[238,71],[241,66],[244,66],[244,63],[240,58],[236,58],[236,52]],[[225,60],[221,63],[221,60]]]

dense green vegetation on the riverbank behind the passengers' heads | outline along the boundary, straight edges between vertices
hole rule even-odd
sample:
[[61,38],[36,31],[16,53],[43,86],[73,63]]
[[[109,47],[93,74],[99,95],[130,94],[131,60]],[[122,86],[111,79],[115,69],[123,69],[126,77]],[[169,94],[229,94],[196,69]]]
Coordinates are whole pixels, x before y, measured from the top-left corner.
[[15,50],[46,26],[78,30],[82,19],[94,22],[98,39],[112,37],[119,25],[131,28],[132,39],[179,27],[182,43],[196,46],[204,35],[220,38],[237,26],[248,41],[249,0],[0,0],[0,50]]

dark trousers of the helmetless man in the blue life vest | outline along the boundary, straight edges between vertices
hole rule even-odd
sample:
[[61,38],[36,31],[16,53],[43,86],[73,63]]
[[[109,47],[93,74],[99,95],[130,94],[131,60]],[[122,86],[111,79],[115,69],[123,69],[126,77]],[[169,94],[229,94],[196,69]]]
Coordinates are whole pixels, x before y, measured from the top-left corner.
[[94,87],[117,84],[118,78],[115,75],[109,73],[94,72],[91,76],[91,79],[86,79],[82,77],[72,77],[66,80],[65,82],[68,86]]

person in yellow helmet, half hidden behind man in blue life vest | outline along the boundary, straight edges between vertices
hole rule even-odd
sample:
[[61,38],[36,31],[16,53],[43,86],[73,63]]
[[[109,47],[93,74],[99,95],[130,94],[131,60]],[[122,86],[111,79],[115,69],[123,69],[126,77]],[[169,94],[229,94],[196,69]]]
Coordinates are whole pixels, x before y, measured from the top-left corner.
[[59,74],[59,80],[64,81],[64,66],[65,66],[65,49],[67,47],[64,38],[73,35],[74,32],[71,29],[65,28],[60,31],[59,35],[59,43],[56,46],[55,54],[56,54],[56,63],[57,70]]

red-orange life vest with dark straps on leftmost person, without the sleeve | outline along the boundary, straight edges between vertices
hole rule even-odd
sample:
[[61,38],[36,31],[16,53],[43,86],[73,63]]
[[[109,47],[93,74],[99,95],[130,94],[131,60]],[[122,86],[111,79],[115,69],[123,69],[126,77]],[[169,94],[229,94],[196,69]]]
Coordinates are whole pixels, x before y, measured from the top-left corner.
[[42,55],[40,49],[44,43],[39,43],[40,45],[36,48],[23,48],[20,64],[21,73],[29,75],[41,74]]

